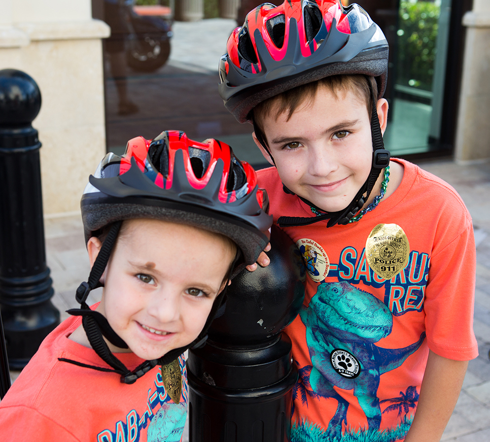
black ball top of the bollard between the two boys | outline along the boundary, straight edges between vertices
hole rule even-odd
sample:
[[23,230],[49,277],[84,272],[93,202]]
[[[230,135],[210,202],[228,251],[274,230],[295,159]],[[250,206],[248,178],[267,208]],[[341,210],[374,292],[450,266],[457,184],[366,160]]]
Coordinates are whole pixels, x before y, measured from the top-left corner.
[[209,328],[218,344],[257,345],[272,341],[299,313],[304,299],[304,266],[296,244],[272,225],[270,264],[244,269],[226,291],[226,303]]

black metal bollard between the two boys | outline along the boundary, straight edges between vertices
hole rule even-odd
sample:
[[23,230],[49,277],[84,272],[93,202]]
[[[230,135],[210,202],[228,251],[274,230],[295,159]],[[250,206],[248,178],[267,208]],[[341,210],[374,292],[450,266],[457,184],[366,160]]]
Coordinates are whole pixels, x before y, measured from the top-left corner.
[[190,442],[289,440],[298,372],[281,331],[303,302],[303,264],[296,245],[275,226],[270,243],[269,266],[233,280],[206,345],[189,350]]

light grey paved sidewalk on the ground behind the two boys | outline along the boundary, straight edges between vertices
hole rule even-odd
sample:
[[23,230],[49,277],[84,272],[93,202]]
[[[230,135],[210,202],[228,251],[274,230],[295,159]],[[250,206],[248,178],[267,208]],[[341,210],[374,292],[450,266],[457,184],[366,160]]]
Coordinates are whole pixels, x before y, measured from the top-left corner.
[[[451,184],[463,197],[472,217],[477,243],[476,303],[474,329],[480,355],[470,361],[456,410],[443,441],[481,442],[490,440],[490,163],[458,166],[440,160],[419,163],[427,171]],[[78,307],[75,290],[89,274],[83,227],[79,215],[45,220],[47,262],[61,312]],[[90,293],[88,303],[99,300],[101,289]],[[18,375],[12,373],[12,377]],[[184,442],[187,442],[187,435]]]

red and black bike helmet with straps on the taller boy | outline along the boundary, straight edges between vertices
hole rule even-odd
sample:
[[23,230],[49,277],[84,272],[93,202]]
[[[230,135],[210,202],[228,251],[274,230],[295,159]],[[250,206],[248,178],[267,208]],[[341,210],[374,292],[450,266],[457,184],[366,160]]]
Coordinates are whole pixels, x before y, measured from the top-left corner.
[[376,112],[376,98],[383,96],[388,72],[388,42],[379,26],[357,4],[344,7],[340,0],[286,0],[277,7],[265,3],[249,12],[243,26],[232,32],[227,50],[220,60],[219,92],[226,109],[241,123],[254,123],[252,111],[262,101],[306,83],[333,75],[363,74],[376,79],[377,97],[371,89],[373,163],[363,188],[345,210],[335,214],[300,224],[289,224],[291,220],[282,217],[282,225],[325,218],[330,218],[328,226],[347,223],[362,208],[390,160]]

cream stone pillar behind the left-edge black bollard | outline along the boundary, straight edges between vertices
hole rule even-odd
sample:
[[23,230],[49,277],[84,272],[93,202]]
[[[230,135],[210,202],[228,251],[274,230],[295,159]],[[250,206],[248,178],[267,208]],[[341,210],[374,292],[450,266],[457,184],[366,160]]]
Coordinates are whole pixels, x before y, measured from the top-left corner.
[[80,212],[88,176],[106,152],[101,39],[90,0],[0,0],[0,69],[18,69],[41,89],[32,126],[42,143],[46,214]]

